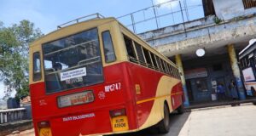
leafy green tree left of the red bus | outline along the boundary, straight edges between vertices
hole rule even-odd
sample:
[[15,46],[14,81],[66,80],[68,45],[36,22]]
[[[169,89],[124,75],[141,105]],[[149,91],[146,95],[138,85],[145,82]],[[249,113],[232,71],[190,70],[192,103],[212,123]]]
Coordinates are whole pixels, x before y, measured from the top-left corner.
[[0,22],[0,82],[7,87],[6,94],[15,90],[17,99],[29,95],[29,44],[42,36],[42,32],[28,20],[9,27]]

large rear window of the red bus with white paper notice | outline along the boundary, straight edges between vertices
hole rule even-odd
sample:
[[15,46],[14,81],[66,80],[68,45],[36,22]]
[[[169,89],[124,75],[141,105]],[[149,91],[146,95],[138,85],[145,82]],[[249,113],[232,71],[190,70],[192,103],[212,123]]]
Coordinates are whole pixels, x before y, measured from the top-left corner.
[[103,82],[97,29],[43,44],[46,93]]

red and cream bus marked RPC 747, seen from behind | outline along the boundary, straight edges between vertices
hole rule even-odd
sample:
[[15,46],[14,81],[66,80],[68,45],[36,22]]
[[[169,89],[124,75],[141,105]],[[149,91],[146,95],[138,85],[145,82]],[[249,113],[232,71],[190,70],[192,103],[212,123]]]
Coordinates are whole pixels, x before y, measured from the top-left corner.
[[177,66],[114,18],[53,31],[30,46],[36,136],[129,133],[183,112]]

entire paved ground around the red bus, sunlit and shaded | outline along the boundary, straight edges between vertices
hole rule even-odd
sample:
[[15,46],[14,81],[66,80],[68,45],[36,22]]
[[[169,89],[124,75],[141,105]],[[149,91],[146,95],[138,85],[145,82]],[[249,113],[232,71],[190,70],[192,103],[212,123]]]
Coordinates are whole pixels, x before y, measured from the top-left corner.
[[[220,106],[171,116],[170,133],[148,134],[153,129],[122,136],[255,136],[256,106]],[[16,136],[32,136],[32,130]],[[120,136],[120,135],[119,135]]]

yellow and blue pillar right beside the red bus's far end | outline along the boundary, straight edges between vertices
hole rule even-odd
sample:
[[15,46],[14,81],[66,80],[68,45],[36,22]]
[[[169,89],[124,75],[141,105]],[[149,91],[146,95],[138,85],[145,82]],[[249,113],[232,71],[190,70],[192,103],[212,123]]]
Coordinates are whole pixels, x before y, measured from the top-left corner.
[[175,56],[175,60],[176,60],[176,65],[177,65],[178,71],[180,73],[182,73],[181,82],[183,85],[183,92],[184,92],[184,97],[185,97],[184,106],[187,107],[187,106],[189,106],[189,96],[188,96],[188,89],[186,87],[186,81],[185,81],[185,77],[184,77],[183,62],[182,62],[180,54],[177,54]]

